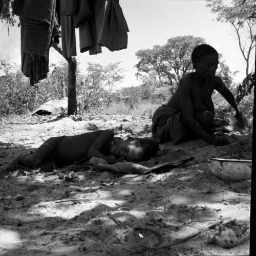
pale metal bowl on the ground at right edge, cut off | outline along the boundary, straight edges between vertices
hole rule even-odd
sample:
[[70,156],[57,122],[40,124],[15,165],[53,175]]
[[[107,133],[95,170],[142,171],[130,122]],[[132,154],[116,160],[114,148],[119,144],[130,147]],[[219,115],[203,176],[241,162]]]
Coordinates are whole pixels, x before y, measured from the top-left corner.
[[243,181],[251,179],[251,160],[211,158],[211,167],[222,180]]

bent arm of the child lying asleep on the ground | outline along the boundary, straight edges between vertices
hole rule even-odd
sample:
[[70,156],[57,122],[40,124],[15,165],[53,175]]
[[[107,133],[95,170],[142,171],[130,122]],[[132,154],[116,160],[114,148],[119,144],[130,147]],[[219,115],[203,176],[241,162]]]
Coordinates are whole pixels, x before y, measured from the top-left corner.
[[87,155],[89,157],[102,158],[110,164],[116,163],[117,160],[114,156],[105,156],[99,151],[103,145],[110,144],[110,142],[113,140],[113,137],[114,132],[112,130],[103,130],[90,146]]

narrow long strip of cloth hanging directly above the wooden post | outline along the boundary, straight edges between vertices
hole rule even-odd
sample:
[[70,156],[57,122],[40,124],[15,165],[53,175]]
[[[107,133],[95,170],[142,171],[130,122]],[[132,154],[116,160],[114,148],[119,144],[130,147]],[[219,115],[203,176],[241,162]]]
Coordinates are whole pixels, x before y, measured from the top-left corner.
[[63,5],[60,6],[60,19],[62,55],[65,58],[76,56],[76,35],[73,17],[63,14]]

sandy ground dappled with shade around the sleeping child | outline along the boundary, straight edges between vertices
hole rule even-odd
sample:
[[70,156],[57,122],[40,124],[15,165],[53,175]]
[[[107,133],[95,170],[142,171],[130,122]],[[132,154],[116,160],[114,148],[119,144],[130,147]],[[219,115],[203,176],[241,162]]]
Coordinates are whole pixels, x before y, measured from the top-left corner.
[[2,120],[0,254],[249,255],[251,181],[220,179],[209,159],[251,159],[251,135],[225,135],[231,144],[221,147],[202,140],[162,144],[159,154],[181,149],[195,156],[163,173],[74,166],[1,173],[52,136],[114,128],[124,139],[150,137],[150,125],[131,116]]

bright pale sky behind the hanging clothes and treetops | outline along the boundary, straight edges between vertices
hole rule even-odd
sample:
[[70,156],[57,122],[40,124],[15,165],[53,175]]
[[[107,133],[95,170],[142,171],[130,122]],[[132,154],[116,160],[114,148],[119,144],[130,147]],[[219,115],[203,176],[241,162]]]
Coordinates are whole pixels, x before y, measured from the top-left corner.
[[[224,0],[226,3],[229,0]],[[129,26],[127,49],[110,52],[102,48],[102,54],[79,53],[77,61],[86,71],[88,62],[108,65],[121,61],[126,70],[122,87],[138,85],[134,66],[138,62],[135,53],[140,49],[152,49],[154,45],[164,45],[173,36],[193,35],[206,39],[207,44],[223,55],[232,72],[239,71],[235,82],[245,77],[245,60],[230,25],[213,20],[216,16],[206,8],[204,0],[120,0],[120,6]],[[76,32],[78,35],[78,31]],[[77,40],[79,49],[79,40]],[[20,29],[10,29],[0,23],[0,59],[20,65]],[[255,50],[252,53],[250,72],[253,67]],[[50,50],[50,63],[62,59],[54,49]]]

